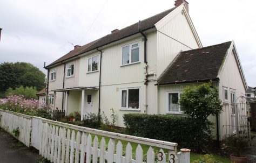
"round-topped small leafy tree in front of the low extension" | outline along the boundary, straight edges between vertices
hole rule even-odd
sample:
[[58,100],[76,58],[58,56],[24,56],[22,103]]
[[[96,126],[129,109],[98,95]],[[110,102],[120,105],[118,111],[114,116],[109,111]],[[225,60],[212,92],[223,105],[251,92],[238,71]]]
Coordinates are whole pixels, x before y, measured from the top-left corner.
[[[194,141],[200,146],[194,146],[195,151],[205,152],[212,142],[213,123],[208,121],[210,115],[218,115],[223,109],[219,99],[218,90],[210,83],[203,83],[199,86],[186,87],[180,95],[180,107],[184,114],[194,122]],[[188,124],[190,125],[190,124]]]

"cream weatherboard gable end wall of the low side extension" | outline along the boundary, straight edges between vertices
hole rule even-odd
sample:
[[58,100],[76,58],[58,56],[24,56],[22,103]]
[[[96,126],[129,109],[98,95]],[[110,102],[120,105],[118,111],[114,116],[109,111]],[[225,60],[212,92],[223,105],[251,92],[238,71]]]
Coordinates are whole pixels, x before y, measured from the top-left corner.
[[[227,110],[228,106],[225,107],[225,105],[228,105],[231,103],[231,90],[235,91],[235,99],[237,99],[239,96],[244,95],[245,96],[245,88],[244,84],[242,83],[242,78],[239,73],[238,65],[234,57],[233,51],[231,51],[224,62],[224,67],[220,73],[219,76],[220,82],[219,82],[219,93],[220,93],[220,99],[224,101],[224,90],[223,87],[226,87],[228,89],[228,103],[224,104],[223,113],[220,115],[220,136],[221,139],[224,139],[225,134],[231,134],[229,130],[226,130],[225,123],[228,123],[226,115],[231,114],[230,111]],[[238,103],[240,103],[238,101]],[[231,116],[231,115],[230,115]],[[227,124],[231,125],[231,124]],[[232,130],[231,130],[232,132]]]

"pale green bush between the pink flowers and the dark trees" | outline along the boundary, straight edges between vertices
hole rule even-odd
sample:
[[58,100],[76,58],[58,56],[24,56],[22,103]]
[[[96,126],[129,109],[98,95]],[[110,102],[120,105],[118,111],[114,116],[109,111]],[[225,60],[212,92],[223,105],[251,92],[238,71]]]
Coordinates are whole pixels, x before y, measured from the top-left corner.
[[35,87],[18,87],[15,89],[8,88],[5,91],[6,96],[12,95],[23,95],[26,99],[37,99],[37,90]]

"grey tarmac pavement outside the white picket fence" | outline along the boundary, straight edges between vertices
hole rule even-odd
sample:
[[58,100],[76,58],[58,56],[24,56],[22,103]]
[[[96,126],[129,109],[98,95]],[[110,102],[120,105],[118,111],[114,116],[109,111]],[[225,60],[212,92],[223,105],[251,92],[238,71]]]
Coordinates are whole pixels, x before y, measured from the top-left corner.
[[40,156],[31,152],[28,147],[15,147],[17,140],[0,129],[0,162],[1,163],[33,163],[38,162]]

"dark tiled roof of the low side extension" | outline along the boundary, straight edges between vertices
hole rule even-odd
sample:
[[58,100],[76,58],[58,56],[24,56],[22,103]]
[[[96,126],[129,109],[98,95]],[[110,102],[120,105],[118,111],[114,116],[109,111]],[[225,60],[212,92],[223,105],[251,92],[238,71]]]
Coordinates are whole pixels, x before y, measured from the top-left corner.
[[157,84],[217,80],[231,42],[181,52],[159,77]]

